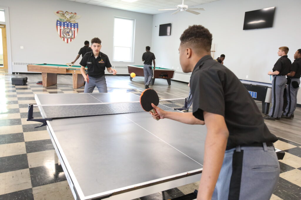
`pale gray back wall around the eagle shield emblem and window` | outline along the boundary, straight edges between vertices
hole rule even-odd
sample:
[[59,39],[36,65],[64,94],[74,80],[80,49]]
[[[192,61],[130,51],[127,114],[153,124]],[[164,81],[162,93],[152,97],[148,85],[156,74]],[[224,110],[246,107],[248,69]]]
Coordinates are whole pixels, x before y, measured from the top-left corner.
[[[141,64],[145,46],[151,44],[153,15],[150,14],[67,0],[1,0],[0,7],[9,7],[12,72],[27,72],[26,63],[70,63],[84,46],[84,41],[91,41],[93,37],[101,39],[101,51],[112,61],[114,16],[136,19],[134,64]],[[61,40],[56,31],[58,17],[54,12],[58,10],[81,15],[76,20],[79,23],[78,34],[69,44]],[[125,63],[112,65],[126,66]]]

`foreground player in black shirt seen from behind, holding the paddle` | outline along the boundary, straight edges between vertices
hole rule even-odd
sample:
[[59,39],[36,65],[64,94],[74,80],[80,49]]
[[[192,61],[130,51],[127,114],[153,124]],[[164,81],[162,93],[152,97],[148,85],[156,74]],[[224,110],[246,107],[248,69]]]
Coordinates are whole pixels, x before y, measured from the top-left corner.
[[[193,112],[167,112],[154,104],[153,118],[206,124],[204,166],[197,199],[270,199],[279,177],[277,141],[240,80],[210,56],[212,35],[201,25],[180,37],[180,64],[192,71]],[[183,133],[185,134],[185,133]]]

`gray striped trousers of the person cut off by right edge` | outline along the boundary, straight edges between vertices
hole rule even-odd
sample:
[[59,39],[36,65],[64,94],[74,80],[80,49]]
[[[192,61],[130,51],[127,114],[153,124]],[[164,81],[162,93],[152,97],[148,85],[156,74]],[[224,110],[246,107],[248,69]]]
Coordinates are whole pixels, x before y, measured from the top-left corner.
[[297,106],[297,92],[299,88],[293,88],[293,81],[296,81],[300,85],[300,79],[291,79],[290,84],[286,86],[287,106],[283,115],[287,117],[290,117],[294,113]]

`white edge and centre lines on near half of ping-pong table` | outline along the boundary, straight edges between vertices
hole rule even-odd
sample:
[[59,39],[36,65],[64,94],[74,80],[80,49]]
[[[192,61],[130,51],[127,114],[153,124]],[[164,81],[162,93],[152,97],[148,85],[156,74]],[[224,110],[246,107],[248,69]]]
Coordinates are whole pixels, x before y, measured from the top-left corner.
[[[127,118],[127,119],[129,119],[129,118]],[[129,121],[132,121],[132,120],[129,119]],[[49,122],[49,121],[47,121],[47,122]],[[136,124],[136,123],[134,122],[134,124]],[[80,199],[91,199],[91,198],[94,198],[94,197],[99,197],[99,196],[107,195],[107,194],[110,194],[110,193],[116,193],[116,192],[119,192],[119,191],[123,191],[123,190],[126,190],[126,189],[130,189],[130,188],[134,188],[134,187],[138,187],[138,186],[142,186],[142,185],[147,185],[147,184],[151,184],[151,183],[155,183],[155,182],[159,182],[159,181],[164,181],[164,180],[169,179],[169,178],[179,177],[179,176],[182,176],[182,175],[186,175],[186,174],[191,174],[191,173],[194,173],[194,172],[201,172],[201,171],[203,171],[203,168],[195,169],[195,170],[192,170],[192,171],[183,172],[183,173],[176,174],[176,175],[171,175],[171,176],[167,176],[167,177],[163,177],[163,178],[158,178],[158,179],[154,179],[154,180],[151,180],[151,181],[146,181],[146,182],[142,182],[142,183],[138,183],[138,184],[126,186],[126,187],[116,188],[114,190],[109,190],[109,191],[105,191],[105,192],[102,192],[102,193],[93,194],[93,195],[90,195],[90,196],[85,196],[83,194],[82,188],[80,187],[79,182],[77,181],[76,176],[75,176],[75,174],[74,174],[74,172],[73,172],[73,170],[72,170],[72,168],[71,168],[71,166],[70,166],[70,164],[68,162],[68,159],[67,159],[66,155],[64,154],[64,151],[63,151],[60,143],[58,142],[58,139],[57,139],[57,137],[56,137],[56,135],[55,135],[52,127],[51,127],[51,124],[47,123],[47,125],[49,127],[50,132],[52,133],[51,136],[53,137],[54,142],[55,142],[55,144],[57,146],[57,149],[58,149],[58,151],[60,153],[60,156],[61,156],[61,158],[63,160],[62,164],[65,165],[65,167],[66,167],[66,169],[68,171],[68,174],[71,177],[71,180],[72,180],[72,182],[73,182],[73,184],[74,184],[74,186],[76,188],[76,192],[77,192],[77,194],[78,194],[78,196],[79,196]],[[138,125],[138,124],[136,124],[136,125]],[[138,126],[141,127],[140,125],[138,125]],[[141,128],[143,128],[143,127],[141,127]],[[146,130],[145,128],[143,128],[143,129]],[[149,131],[147,131],[147,132],[149,132]],[[159,137],[157,137],[157,138],[160,139]],[[160,140],[162,140],[162,139],[160,139]],[[163,142],[165,142],[165,141],[163,141]],[[167,142],[165,142],[165,143],[168,144]],[[171,146],[172,148],[174,148],[172,145],[169,145],[169,146]],[[176,149],[176,148],[174,148],[174,149]],[[176,150],[179,151],[178,149],[176,149]],[[181,151],[179,151],[179,152],[181,152]],[[182,154],[184,154],[184,153],[182,153]],[[184,155],[187,156],[186,154],[184,154]],[[187,156],[187,157],[189,157],[189,156]],[[190,158],[190,159],[193,160],[193,161],[195,161],[192,158]],[[197,161],[195,161],[195,162],[198,163]],[[198,163],[198,164],[200,164],[200,163]],[[200,165],[203,166],[202,164],[200,164]]]

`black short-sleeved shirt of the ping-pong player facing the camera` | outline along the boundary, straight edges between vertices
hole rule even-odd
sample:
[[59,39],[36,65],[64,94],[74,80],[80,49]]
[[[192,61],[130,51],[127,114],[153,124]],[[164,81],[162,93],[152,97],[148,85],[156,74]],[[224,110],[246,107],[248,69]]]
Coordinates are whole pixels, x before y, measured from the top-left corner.
[[99,52],[97,58],[95,58],[93,51],[86,53],[79,63],[81,66],[88,67],[88,74],[94,78],[100,78],[104,76],[104,70],[112,67],[109,58],[102,52]]

